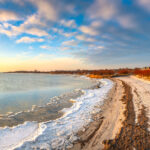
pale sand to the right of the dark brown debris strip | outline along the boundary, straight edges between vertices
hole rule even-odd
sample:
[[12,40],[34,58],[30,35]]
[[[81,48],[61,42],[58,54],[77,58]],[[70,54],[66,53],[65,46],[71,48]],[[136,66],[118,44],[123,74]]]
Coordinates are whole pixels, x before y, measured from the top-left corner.
[[120,78],[132,87],[133,104],[136,114],[135,122],[142,107],[145,107],[146,116],[149,118],[150,131],[150,81],[136,78],[134,76]]

